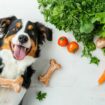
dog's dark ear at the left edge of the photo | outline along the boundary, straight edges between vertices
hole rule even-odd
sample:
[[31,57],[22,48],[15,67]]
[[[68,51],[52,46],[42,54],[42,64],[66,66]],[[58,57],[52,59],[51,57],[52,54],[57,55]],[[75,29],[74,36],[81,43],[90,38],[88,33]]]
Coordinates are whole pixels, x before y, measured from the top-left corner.
[[0,38],[7,34],[9,26],[15,19],[15,16],[0,19]]

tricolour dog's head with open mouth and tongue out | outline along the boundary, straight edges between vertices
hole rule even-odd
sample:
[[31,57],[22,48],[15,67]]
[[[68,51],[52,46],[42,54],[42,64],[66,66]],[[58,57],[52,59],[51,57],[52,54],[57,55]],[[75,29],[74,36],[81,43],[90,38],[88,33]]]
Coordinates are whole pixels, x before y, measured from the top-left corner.
[[2,49],[11,50],[17,60],[23,60],[26,56],[38,57],[39,45],[43,44],[45,39],[52,40],[52,30],[39,22],[28,21],[24,24],[21,19],[7,20],[11,24],[4,28],[7,31],[3,38]]

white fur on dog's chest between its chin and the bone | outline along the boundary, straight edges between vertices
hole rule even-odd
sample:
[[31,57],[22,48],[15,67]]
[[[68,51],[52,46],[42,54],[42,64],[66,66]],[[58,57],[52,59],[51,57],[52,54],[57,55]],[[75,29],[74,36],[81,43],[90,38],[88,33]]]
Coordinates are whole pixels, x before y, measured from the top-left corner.
[[9,79],[14,79],[24,74],[26,68],[35,62],[35,58],[26,56],[23,60],[14,59],[10,50],[1,50],[0,57],[3,60],[4,68],[1,76]]

